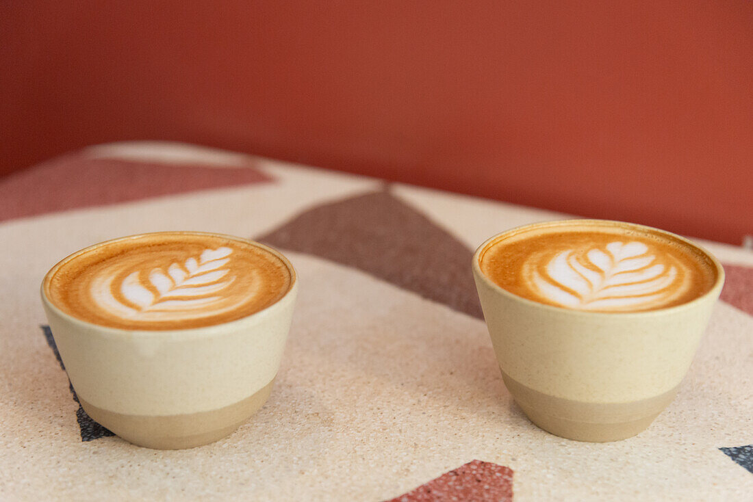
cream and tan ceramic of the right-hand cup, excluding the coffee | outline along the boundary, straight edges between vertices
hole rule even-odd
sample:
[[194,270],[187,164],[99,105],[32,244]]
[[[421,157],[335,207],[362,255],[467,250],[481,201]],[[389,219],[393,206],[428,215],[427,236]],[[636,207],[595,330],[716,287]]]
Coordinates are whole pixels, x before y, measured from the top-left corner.
[[674,399],[721,293],[724,269],[708,251],[659,230],[706,254],[717,279],[696,300],[646,312],[549,306],[505,291],[481,272],[483,250],[510,233],[588,223],[554,221],[500,233],[480,245],[472,268],[502,378],[520,408],[557,436],[615,441],[644,431]]

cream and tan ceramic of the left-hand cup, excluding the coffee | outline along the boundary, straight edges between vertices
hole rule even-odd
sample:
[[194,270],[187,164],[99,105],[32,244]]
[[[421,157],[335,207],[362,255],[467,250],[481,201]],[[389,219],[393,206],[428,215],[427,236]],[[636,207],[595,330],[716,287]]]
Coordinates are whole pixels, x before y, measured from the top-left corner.
[[[282,254],[253,244],[285,263],[291,287],[266,309],[224,324],[154,331],[103,327],[62,312],[42,284],[60,357],[91,418],[130,443],[183,449],[231,434],[264,405],[290,329],[297,278]],[[62,263],[99,245],[62,260],[45,281]]]

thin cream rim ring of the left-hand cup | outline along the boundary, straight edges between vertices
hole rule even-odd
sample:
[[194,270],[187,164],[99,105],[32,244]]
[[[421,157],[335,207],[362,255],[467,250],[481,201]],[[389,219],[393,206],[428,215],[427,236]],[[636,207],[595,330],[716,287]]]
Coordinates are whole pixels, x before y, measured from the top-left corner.
[[[282,295],[282,297],[279,297],[274,303],[271,303],[270,305],[264,307],[264,309],[258,310],[256,312],[253,312],[252,314],[245,315],[242,318],[233,319],[232,321],[226,321],[226,322],[220,322],[218,324],[209,324],[208,326],[200,326],[200,327],[181,327],[181,328],[175,328],[171,330],[144,330],[139,328],[133,328],[133,329],[126,329],[126,328],[120,328],[120,327],[112,327],[112,326],[105,326],[103,324],[96,324],[90,321],[84,321],[83,319],[77,318],[74,315],[69,314],[68,312],[63,312],[62,309],[60,309],[58,306],[56,306],[49,297],[47,297],[47,287],[50,284],[50,281],[52,280],[53,275],[57,270],[68,263],[70,260],[73,260],[75,257],[78,257],[81,254],[87,253],[93,249],[102,247],[104,245],[109,245],[114,242],[120,242],[125,241],[129,239],[142,239],[147,236],[157,236],[157,235],[171,235],[171,236],[212,236],[212,237],[220,237],[222,239],[230,239],[233,241],[238,242],[244,242],[246,244],[253,245],[257,248],[264,249],[264,251],[270,252],[270,254],[273,254],[275,257],[277,257],[279,260],[282,261],[282,263],[285,265],[285,267],[288,269],[288,272],[290,273],[291,282],[290,286],[288,287],[288,291],[285,291],[285,294]],[[212,336],[215,334],[216,331],[219,330],[226,330],[228,326],[232,326],[233,324],[241,324],[248,322],[249,320],[253,318],[261,318],[265,315],[268,315],[268,313],[281,305],[282,303],[286,302],[291,295],[294,295],[297,291],[298,286],[298,275],[295,271],[293,264],[290,263],[290,260],[288,260],[287,257],[285,257],[284,254],[282,254],[280,251],[277,251],[275,248],[272,248],[268,245],[262,244],[261,242],[254,241],[252,239],[245,239],[244,237],[239,236],[231,236],[230,234],[226,233],[217,233],[217,232],[203,232],[203,231],[197,231],[197,230],[164,230],[164,231],[158,231],[158,232],[145,232],[145,233],[136,233],[130,236],[123,236],[123,237],[117,237],[115,239],[108,239],[106,241],[97,242],[96,244],[89,245],[86,248],[79,249],[78,251],[73,252],[72,254],[69,254],[59,262],[57,262],[55,265],[50,268],[50,270],[47,271],[47,274],[44,275],[44,278],[42,279],[41,286],[40,286],[40,294],[42,302],[44,303],[44,306],[46,306],[48,309],[52,310],[56,313],[56,315],[59,315],[62,318],[65,318],[67,321],[72,322],[73,324],[81,324],[83,327],[87,327],[90,329],[96,329],[100,333],[111,333],[113,335],[131,335],[133,333],[139,333],[141,336],[169,336],[170,333],[181,333],[182,336],[187,336],[194,334],[195,336]]]

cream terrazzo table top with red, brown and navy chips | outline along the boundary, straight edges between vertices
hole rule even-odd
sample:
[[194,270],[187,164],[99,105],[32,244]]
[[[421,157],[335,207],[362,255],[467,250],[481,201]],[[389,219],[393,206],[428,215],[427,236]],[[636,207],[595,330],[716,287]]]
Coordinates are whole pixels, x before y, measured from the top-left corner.
[[[489,236],[564,214],[189,145],[74,152],[0,178],[0,500],[753,500],[753,253],[714,242],[721,301],[647,431],[538,429],[501,376],[471,277]],[[206,230],[300,277],[276,387],[196,449],[132,446],[80,409],[38,298],[105,239]]]

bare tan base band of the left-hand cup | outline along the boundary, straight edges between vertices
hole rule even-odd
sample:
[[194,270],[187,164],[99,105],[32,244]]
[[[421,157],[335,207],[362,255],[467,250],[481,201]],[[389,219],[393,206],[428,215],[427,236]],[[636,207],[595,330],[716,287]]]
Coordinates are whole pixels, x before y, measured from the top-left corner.
[[272,382],[238,403],[209,412],[184,415],[123,415],[79,399],[87,414],[123,440],[154,449],[184,449],[206,445],[233,433],[257,412],[272,392]]

